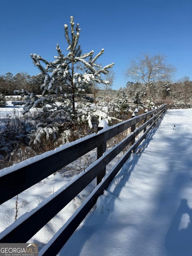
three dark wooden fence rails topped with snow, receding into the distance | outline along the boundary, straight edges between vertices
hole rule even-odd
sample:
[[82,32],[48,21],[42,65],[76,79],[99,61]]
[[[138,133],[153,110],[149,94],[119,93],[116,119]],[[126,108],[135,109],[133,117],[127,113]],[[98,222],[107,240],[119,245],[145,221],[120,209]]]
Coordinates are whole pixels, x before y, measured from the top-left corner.
[[[134,151],[142,142],[146,137],[146,134],[151,130],[166,108],[167,105],[163,105],[143,115],[136,116],[118,125],[109,127],[106,131],[99,131],[98,134],[87,136],[83,141],[79,142],[79,140],[77,140],[73,143],[69,143],[67,148],[20,169],[17,169],[19,164],[16,164],[14,166],[15,170],[12,170],[13,167],[0,170],[0,203],[4,203],[32,185],[35,185],[42,179],[48,177],[50,174],[60,170],[62,167],[88,153],[92,149],[97,147],[98,151],[100,151],[98,154],[99,159],[88,167],[85,172],[79,173],[77,177],[72,179],[43,202],[39,203],[35,209],[25,213],[22,218],[18,218],[13,224],[1,232],[0,242],[27,242],[38,232],[38,230],[44,227],[48,221],[73,200],[73,198],[76,197],[76,195],[79,194],[93,179],[99,177],[97,179],[98,185],[95,190],[85,202],[82,203],[79,209],[71,216],[64,226],[61,227],[55,236],[53,236],[48,244],[39,252],[39,255],[56,255],[88,214],[90,209],[94,206],[98,196],[108,187],[123,164],[128,160],[131,151]],[[131,134],[122,142],[101,155],[102,150],[104,151],[106,147],[107,140],[110,140],[130,127],[135,127],[135,125],[141,121],[144,122],[143,125],[131,132]],[[140,134],[141,131],[144,131],[141,137],[130,146],[129,150],[121,158],[118,164],[105,175],[106,165],[109,164],[110,161],[112,161],[113,158],[115,158],[126,146],[133,142],[135,137]],[[4,175],[1,175],[1,172]]]

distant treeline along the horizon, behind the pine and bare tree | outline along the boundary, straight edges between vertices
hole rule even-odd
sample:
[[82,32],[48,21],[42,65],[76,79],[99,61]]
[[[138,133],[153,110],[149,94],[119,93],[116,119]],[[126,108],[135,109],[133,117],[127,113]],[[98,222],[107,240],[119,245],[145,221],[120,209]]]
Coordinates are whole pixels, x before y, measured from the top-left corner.
[[[29,92],[33,92],[36,95],[41,95],[41,85],[44,83],[44,75],[37,74],[30,76],[27,72],[20,72],[13,76],[12,73],[8,72],[5,75],[0,75],[0,93],[5,96],[14,95],[14,90],[25,89]],[[120,87],[119,89],[121,89]],[[140,96],[147,97],[147,92],[145,88],[140,83],[134,83],[128,81],[125,85],[126,93],[133,97],[134,92],[139,92]],[[65,88],[66,90],[69,88]],[[108,90],[118,91],[119,89],[113,89],[110,86]],[[97,91],[103,90],[98,86]],[[86,94],[92,94],[93,89],[88,86]],[[128,96],[128,95],[127,95]],[[166,100],[170,98],[172,100],[176,99],[178,102],[192,103],[192,81],[188,76],[182,77],[176,82],[164,81],[156,83],[152,88],[152,95],[154,99]]]

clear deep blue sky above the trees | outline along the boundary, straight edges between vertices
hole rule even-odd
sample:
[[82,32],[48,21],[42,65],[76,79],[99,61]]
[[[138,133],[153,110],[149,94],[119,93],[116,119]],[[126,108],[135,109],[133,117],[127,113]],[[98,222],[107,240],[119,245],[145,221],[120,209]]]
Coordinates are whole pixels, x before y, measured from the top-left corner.
[[175,79],[192,80],[192,1],[2,1],[0,16],[0,75],[21,71],[36,75],[30,53],[48,61],[58,43],[67,53],[64,24],[70,16],[81,28],[83,53],[105,49],[102,65],[115,63],[113,89],[126,85],[129,61],[140,53],[163,53],[177,68]]

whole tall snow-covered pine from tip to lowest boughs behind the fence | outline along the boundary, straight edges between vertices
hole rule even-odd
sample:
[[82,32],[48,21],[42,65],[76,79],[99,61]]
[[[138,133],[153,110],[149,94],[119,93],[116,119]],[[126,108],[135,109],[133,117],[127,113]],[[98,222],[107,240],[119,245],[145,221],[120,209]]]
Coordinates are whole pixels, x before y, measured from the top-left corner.
[[[42,108],[42,111],[35,116],[35,119],[40,121],[29,135],[30,145],[42,147],[43,141],[45,145],[52,141],[53,146],[58,146],[57,140],[61,140],[62,143],[67,142],[68,137],[66,136],[68,135],[66,134],[70,134],[72,130],[79,129],[79,132],[73,132],[73,135],[76,134],[75,138],[83,137],[80,132],[85,130],[85,126],[80,128],[78,124],[84,125],[86,122],[86,125],[88,123],[89,128],[92,128],[95,117],[98,117],[98,121],[101,118],[107,122],[111,120],[102,111],[97,111],[94,108],[88,110],[83,107],[87,107],[85,103],[93,100],[85,94],[85,89],[94,83],[109,83],[102,77],[109,72],[114,63],[104,68],[96,64],[97,59],[104,53],[104,49],[95,57],[93,57],[94,51],[82,54],[79,44],[79,24],[74,28],[75,23],[72,16],[70,20],[70,35],[68,26],[64,25],[68,45],[67,56],[64,56],[58,44],[56,47],[58,56],[54,57],[55,61],[53,62],[48,62],[35,53],[31,54],[33,63],[45,77],[44,83],[41,85],[42,95],[35,95],[25,89],[14,91],[15,94],[25,97],[23,101],[13,102],[14,105],[24,105],[22,114],[28,112],[32,107]],[[78,107],[75,104],[77,101],[79,102]]]

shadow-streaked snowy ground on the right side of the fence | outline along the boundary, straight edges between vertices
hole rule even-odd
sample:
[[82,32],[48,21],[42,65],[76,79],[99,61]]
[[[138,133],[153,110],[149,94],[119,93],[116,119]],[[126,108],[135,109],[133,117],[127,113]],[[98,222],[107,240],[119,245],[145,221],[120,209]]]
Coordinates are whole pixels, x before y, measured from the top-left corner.
[[58,255],[192,255],[191,117],[167,110]]

